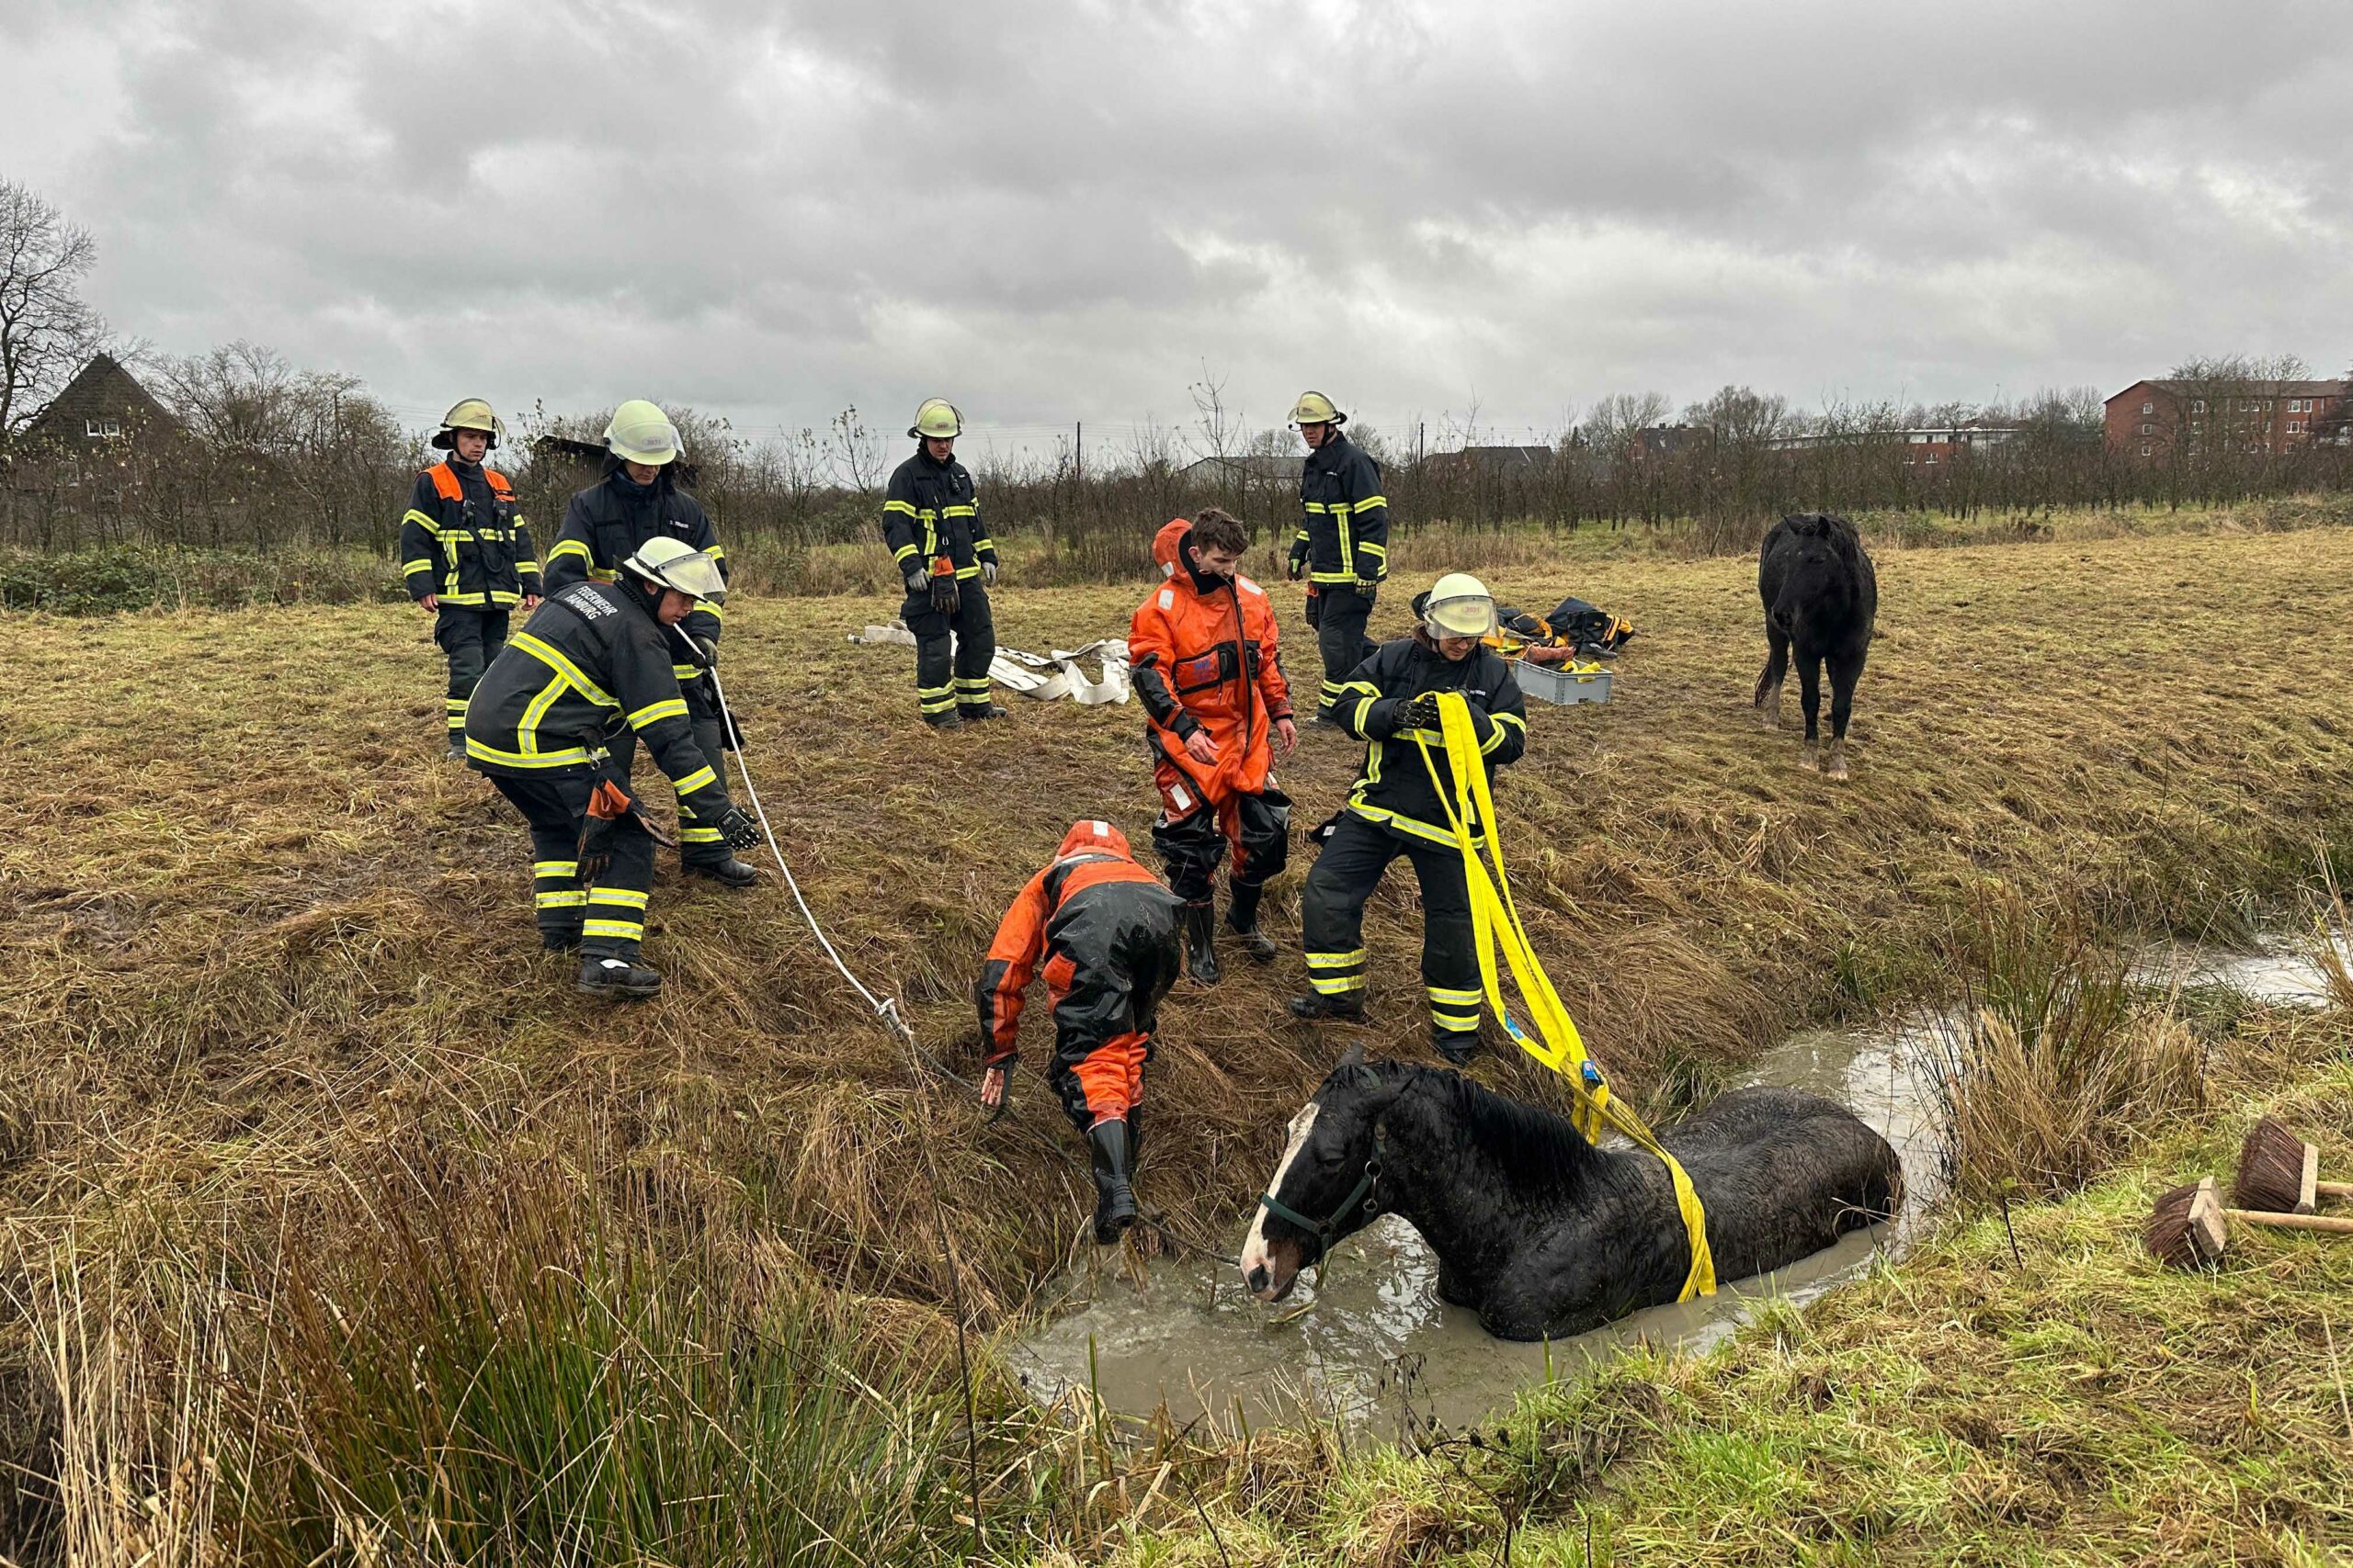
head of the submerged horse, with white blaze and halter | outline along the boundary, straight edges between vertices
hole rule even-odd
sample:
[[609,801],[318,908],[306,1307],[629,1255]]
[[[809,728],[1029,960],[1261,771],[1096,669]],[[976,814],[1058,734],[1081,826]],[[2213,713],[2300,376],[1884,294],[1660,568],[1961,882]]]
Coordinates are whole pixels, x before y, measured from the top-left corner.
[[1391,1100],[1395,1086],[1365,1065],[1362,1046],[1348,1046],[1315,1098],[1292,1117],[1282,1161],[1242,1244],[1242,1281],[1252,1295],[1282,1300],[1299,1284],[1299,1269],[1372,1220],[1374,1128]]

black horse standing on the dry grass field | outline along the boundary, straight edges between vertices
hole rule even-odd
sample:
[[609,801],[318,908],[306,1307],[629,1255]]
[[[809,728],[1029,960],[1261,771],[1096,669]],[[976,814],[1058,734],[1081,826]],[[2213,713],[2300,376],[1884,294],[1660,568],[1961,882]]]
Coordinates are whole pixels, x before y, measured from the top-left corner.
[[1765,729],[1781,726],[1781,679],[1791,649],[1798,656],[1798,691],[1805,701],[1805,766],[1817,766],[1814,745],[1821,715],[1821,665],[1831,665],[1831,778],[1847,776],[1847,715],[1854,682],[1871,654],[1871,621],[1880,611],[1880,578],[1871,571],[1854,524],[1828,512],[1798,512],[1772,524],[1758,552],[1758,597],[1765,599],[1765,675],[1755,705]]

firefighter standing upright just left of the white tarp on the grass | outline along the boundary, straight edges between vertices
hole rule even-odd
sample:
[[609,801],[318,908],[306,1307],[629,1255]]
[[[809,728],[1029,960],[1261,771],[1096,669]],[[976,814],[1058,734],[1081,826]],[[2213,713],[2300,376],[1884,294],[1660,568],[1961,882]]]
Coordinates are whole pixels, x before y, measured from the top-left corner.
[[1005,717],[988,701],[988,665],[998,656],[998,628],[988,616],[998,541],[981,522],[972,475],[955,461],[962,428],[955,404],[925,400],[908,425],[915,456],[892,470],[882,496],[882,543],[906,583],[899,618],[915,632],[915,705],[934,729]]

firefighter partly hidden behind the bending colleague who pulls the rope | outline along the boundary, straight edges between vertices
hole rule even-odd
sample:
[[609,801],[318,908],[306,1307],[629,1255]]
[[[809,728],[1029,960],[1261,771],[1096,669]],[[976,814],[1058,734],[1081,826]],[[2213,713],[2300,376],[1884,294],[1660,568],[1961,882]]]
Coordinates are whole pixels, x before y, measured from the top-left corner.
[[[605,425],[605,480],[572,496],[572,505],[565,508],[565,527],[548,545],[548,592],[584,581],[614,581],[621,562],[654,538],[671,538],[699,550],[718,569],[725,590],[727,552],[720,550],[704,508],[678,489],[680,442],[671,416],[642,397],[624,402],[614,409],[612,423]],[[675,639],[671,644],[671,672],[687,701],[694,745],[713,766],[720,766],[727,726],[720,722],[720,703],[711,682],[704,679],[704,668],[720,661],[720,618],[725,614],[720,599],[725,592],[699,602],[694,614],[680,623],[694,654],[687,654]],[[616,748],[624,778],[633,755],[635,743],[624,736]],[[732,889],[760,879],[758,870],[729,853],[718,825],[704,820],[685,795],[678,797],[678,865],[689,877],[708,877]]]

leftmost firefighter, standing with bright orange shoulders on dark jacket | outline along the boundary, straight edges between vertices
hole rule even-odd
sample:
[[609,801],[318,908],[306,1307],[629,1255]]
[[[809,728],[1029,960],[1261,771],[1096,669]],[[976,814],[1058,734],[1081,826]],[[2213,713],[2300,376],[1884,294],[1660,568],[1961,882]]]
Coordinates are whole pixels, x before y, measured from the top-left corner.
[[506,618],[539,607],[539,552],[506,475],[482,465],[504,425],[480,397],[447,414],[433,447],[449,456],[416,475],[400,517],[400,576],[433,611],[433,642],[449,658],[449,757],[466,757],[466,698],[506,646]]

